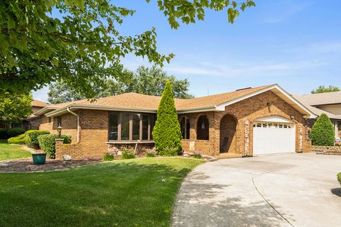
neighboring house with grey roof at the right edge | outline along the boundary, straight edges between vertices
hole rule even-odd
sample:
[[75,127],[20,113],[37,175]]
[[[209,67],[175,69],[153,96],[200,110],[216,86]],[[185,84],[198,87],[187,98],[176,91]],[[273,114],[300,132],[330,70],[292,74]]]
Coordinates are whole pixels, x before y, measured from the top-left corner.
[[[307,106],[316,116],[327,114],[335,128],[335,138],[341,137],[341,92],[326,92],[319,94],[294,95],[302,104]],[[313,127],[315,119],[308,121],[308,126]]]

